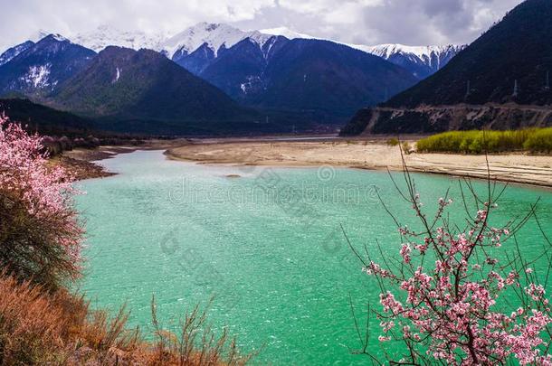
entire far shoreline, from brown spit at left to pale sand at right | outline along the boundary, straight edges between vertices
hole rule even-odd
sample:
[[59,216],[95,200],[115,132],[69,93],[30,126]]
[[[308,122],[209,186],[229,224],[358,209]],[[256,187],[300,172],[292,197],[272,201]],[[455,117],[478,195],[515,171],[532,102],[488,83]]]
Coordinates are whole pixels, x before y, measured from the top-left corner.
[[[406,140],[414,145],[415,139]],[[77,180],[104,178],[107,172],[94,162],[137,150],[161,150],[167,159],[195,164],[254,165],[279,167],[335,166],[361,170],[402,171],[399,146],[389,146],[382,138],[371,140],[267,140],[180,139],[149,141],[138,146],[100,146],[97,149],[75,149],[52,158],[62,164]],[[488,155],[493,180],[552,189],[552,157],[519,153]],[[404,155],[413,173],[442,174],[487,179],[485,155],[417,154]]]

